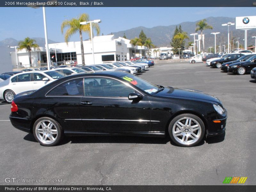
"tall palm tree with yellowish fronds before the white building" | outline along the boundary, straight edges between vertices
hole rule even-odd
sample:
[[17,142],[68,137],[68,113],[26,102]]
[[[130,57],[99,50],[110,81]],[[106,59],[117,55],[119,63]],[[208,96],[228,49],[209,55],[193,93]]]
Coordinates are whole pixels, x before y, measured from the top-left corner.
[[[84,62],[84,44],[83,44],[83,36],[82,32],[87,33],[91,37],[91,27],[90,23],[86,25],[81,25],[80,22],[90,21],[89,15],[86,13],[81,14],[78,18],[72,18],[70,20],[64,20],[61,24],[61,33],[63,34],[64,28],[68,28],[65,33],[65,41],[68,44],[68,41],[72,35],[76,32],[79,32],[80,35],[80,43],[81,43],[81,55],[82,55],[82,65],[85,65]],[[97,31],[97,35],[100,34],[100,27],[98,23],[92,23],[92,30],[95,29]]]

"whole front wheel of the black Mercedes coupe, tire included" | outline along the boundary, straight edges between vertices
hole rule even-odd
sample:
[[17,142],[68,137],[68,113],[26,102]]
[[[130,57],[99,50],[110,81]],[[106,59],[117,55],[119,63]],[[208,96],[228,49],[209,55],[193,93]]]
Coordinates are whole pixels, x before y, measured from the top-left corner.
[[186,113],[174,117],[169,124],[168,131],[175,144],[181,147],[192,147],[204,138],[205,128],[200,117]]

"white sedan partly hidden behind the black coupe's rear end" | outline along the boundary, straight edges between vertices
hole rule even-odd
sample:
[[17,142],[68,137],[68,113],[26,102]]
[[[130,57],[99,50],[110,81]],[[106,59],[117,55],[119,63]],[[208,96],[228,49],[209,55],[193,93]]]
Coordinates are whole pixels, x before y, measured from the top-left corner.
[[14,95],[25,91],[37,90],[64,76],[64,74],[53,70],[18,73],[0,83],[0,99],[11,103]]

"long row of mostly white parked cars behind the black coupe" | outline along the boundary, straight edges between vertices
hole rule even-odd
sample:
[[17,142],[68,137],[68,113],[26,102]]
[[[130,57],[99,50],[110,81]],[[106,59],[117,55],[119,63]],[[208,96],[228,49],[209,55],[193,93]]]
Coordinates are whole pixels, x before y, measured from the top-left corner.
[[75,67],[59,66],[52,67],[51,70],[30,69],[25,72],[7,72],[0,76],[0,100],[2,99],[8,103],[11,103],[16,94],[30,90],[37,90],[56,79],[71,74],[90,73],[105,70],[123,71],[131,74],[138,74],[144,72],[147,68],[153,65],[154,61],[140,59],[136,60],[136,62],[118,61],[97,65],[76,65]]

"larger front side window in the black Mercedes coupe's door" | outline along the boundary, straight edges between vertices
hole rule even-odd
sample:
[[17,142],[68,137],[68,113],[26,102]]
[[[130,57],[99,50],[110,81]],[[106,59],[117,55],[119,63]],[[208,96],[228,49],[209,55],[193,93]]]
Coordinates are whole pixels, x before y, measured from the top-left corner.
[[125,97],[134,90],[127,85],[109,78],[85,78],[85,96]]

